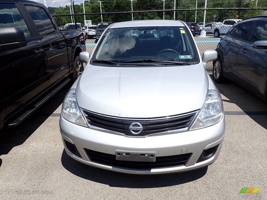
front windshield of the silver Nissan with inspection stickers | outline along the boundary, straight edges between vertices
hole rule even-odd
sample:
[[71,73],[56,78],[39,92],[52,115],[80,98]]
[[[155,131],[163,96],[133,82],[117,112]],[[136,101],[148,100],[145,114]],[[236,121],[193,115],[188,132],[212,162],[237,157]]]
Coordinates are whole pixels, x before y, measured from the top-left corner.
[[191,33],[179,26],[108,29],[95,52],[91,60],[94,65],[193,65],[199,62]]

